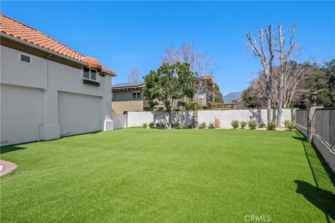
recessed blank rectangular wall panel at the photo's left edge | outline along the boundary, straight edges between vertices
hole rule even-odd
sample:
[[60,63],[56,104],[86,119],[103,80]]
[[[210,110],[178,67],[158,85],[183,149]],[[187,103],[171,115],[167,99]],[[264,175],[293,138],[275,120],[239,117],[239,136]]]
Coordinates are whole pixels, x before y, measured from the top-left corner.
[[41,90],[1,84],[1,144],[36,141]]

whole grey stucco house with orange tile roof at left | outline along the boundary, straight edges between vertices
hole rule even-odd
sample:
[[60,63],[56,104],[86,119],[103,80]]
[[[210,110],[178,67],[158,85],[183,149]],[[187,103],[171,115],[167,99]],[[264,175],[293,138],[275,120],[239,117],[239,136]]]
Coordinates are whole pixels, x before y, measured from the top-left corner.
[[112,70],[6,15],[0,26],[1,146],[112,130]]

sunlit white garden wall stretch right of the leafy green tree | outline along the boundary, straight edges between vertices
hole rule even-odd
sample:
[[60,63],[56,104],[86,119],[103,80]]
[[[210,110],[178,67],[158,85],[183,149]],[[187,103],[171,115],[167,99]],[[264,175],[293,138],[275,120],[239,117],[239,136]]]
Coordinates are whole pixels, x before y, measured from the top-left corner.
[[[220,118],[221,128],[232,128],[233,120],[249,121],[254,119],[258,123],[267,124],[267,109],[241,109],[241,110],[205,110],[198,112],[198,123],[214,123],[215,118]],[[272,109],[272,119],[276,121],[276,109]],[[291,109],[283,109],[281,120],[291,120]],[[281,123],[281,127],[284,127]]]

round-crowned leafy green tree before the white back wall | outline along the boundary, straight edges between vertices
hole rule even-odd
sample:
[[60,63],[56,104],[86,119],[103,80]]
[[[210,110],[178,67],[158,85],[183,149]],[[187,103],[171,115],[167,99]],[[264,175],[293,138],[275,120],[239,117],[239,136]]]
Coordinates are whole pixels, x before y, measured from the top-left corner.
[[162,102],[168,112],[168,128],[171,128],[172,107],[178,107],[186,98],[193,98],[195,75],[188,63],[163,63],[144,77],[144,98],[154,107]]

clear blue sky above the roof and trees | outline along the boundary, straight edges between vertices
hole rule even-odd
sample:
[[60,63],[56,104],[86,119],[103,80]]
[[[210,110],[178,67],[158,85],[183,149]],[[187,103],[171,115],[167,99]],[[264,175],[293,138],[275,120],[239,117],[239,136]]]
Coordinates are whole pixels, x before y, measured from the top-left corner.
[[335,58],[334,1],[1,1],[1,13],[34,27],[117,72],[158,68],[166,47],[195,43],[216,62],[223,94],[242,91],[260,63],[245,34],[267,24],[297,24],[300,60]]

